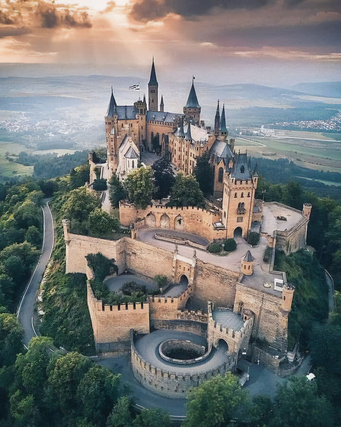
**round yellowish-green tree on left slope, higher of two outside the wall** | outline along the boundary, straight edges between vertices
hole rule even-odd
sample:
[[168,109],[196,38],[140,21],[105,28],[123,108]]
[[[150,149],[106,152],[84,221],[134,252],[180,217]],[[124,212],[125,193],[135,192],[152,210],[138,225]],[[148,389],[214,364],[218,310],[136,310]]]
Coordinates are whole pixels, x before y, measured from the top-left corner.
[[85,187],[72,190],[62,207],[65,218],[82,222],[88,219],[90,212],[100,207],[98,197]]

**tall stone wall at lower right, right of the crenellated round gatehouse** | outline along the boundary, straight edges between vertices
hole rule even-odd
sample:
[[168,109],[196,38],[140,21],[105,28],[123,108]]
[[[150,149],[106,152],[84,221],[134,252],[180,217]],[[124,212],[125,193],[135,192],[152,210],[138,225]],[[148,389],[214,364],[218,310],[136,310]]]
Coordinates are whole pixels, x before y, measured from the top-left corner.
[[252,337],[265,339],[272,347],[286,351],[288,312],[281,310],[282,298],[236,284],[234,312],[249,309],[255,314]]

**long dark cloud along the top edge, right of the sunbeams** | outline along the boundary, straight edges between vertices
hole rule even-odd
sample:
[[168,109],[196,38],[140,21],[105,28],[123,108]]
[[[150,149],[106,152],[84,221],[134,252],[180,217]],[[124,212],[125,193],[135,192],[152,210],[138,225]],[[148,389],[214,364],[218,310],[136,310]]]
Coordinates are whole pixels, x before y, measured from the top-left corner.
[[271,0],[141,0],[133,4],[131,16],[136,20],[160,19],[168,14],[187,19],[208,14],[219,9],[257,9]]

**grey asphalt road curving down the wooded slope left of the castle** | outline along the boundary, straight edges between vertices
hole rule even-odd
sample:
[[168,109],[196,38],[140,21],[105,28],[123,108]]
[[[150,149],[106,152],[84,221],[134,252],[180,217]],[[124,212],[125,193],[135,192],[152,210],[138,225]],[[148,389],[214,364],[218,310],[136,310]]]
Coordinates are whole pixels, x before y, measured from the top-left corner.
[[48,204],[42,206],[42,211],[44,217],[44,240],[41,254],[37,266],[22,295],[17,311],[17,317],[24,329],[23,343],[26,348],[30,339],[37,336],[33,324],[33,311],[36,302],[36,293],[47,263],[50,260],[54,245],[53,218]]

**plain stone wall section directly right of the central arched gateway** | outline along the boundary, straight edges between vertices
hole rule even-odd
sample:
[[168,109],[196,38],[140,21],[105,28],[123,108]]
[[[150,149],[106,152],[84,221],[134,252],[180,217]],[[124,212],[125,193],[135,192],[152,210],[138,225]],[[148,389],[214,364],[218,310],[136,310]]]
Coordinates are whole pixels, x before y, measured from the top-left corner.
[[206,310],[207,301],[212,301],[219,307],[232,309],[239,276],[239,272],[225,270],[198,259],[193,278],[193,305]]

